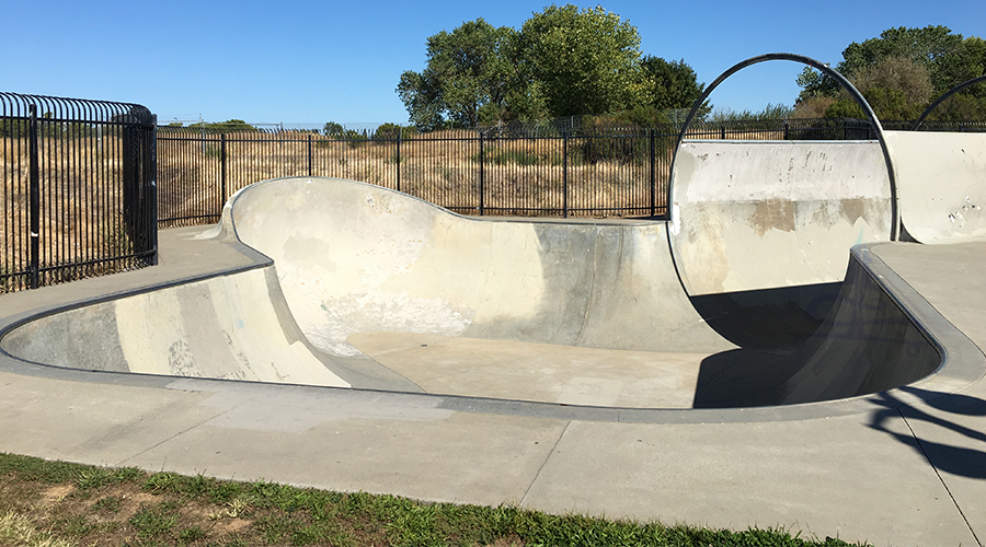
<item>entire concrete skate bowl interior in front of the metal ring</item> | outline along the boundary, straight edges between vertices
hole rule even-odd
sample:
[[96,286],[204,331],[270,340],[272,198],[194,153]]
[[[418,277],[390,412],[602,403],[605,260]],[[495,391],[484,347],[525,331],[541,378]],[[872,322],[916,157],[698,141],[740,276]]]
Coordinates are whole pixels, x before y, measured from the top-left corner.
[[475,220],[299,177],[239,193],[213,236],[274,265],[35,318],[0,344],[61,366],[651,409],[851,397],[941,362],[858,259],[803,344],[737,347],[683,290],[664,222]]

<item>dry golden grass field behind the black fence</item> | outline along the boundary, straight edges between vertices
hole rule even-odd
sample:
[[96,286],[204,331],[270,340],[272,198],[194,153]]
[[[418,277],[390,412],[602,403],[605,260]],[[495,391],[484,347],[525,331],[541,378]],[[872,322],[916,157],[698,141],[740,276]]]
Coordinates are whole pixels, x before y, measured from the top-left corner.
[[[402,140],[334,140],[300,131],[218,133],[158,129],[160,228],[216,222],[226,199],[259,181],[332,176],[398,189],[465,214],[646,217],[665,211],[675,136],[482,139],[446,130]],[[697,127],[701,139],[782,139],[781,130]],[[651,149],[653,147],[653,155]],[[131,267],[124,228],[119,136],[43,137],[41,263],[50,282]],[[0,138],[0,291],[23,287],[30,248],[25,138]],[[64,267],[84,263],[83,266]]]

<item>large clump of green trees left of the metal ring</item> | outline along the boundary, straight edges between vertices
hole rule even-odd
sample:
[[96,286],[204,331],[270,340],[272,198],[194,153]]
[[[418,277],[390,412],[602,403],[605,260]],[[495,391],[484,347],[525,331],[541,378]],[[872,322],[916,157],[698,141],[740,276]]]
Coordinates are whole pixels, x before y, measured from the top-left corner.
[[551,5],[519,30],[467,21],[429,36],[426,56],[397,88],[422,131],[618,113],[653,125],[702,92],[684,60],[644,56],[637,27],[601,7]]

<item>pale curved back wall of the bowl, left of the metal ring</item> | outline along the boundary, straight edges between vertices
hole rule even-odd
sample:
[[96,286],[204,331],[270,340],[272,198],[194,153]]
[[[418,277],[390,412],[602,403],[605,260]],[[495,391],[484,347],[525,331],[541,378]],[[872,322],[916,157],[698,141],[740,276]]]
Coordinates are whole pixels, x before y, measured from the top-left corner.
[[274,259],[308,339],[335,356],[358,356],[346,338],[369,330],[655,351],[734,347],[681,291],[663,222],[469,219],[320,177],[253,185],[231,209],[237,236]]

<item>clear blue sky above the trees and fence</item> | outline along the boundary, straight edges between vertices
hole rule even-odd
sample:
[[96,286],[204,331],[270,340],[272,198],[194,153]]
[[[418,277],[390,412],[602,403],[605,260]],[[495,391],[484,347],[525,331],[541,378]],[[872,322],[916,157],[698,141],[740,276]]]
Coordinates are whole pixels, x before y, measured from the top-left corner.
[[[550,2],[4,4],[0,91],[140,103],[160,123],[202,116],[358,127],[406,123],[394,89],[402,71],[424,68],[428,36],[477,18],[519,28]],[[895,26],[945,25],[964,36],[986,37],[986,2],[975,0],[600,4],[638,27],[645,55],[685,59],[706,83],[741,60],[772,51],[835,66],[849,43]],[[730,78],[711,101],[716,108],[734,110],[791,105],[802,68],[787,61],[757,65]]]

